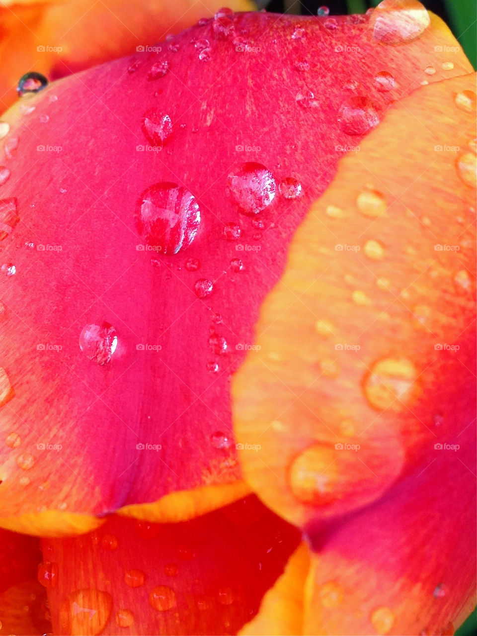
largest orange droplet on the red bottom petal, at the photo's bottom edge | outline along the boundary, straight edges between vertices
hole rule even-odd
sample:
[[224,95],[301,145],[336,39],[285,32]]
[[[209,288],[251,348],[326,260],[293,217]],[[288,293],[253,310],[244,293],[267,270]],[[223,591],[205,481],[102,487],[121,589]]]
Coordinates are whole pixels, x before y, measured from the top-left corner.
[[111,616],[111,594],[85,588],[69,594],[60,606],[60,626],[64,633],[97,636]]

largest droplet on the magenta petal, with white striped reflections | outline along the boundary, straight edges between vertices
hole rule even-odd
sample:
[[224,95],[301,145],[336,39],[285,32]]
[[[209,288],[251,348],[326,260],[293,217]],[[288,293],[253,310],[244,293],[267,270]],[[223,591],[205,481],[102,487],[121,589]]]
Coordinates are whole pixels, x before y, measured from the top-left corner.
[[145,241],[163,252],[177,254],[191,245],[201,213],[189,190],[175,183],[156,183],[142,193],[137,226]]

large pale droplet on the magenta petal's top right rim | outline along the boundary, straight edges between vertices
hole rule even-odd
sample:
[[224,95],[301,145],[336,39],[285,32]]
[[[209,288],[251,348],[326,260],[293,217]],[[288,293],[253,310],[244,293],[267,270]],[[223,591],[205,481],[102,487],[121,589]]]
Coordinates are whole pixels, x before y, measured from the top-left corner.
[[426,8],[417,0],[384,0],[370,16],[373,38],[400,45],[419,38],[431,24]]

